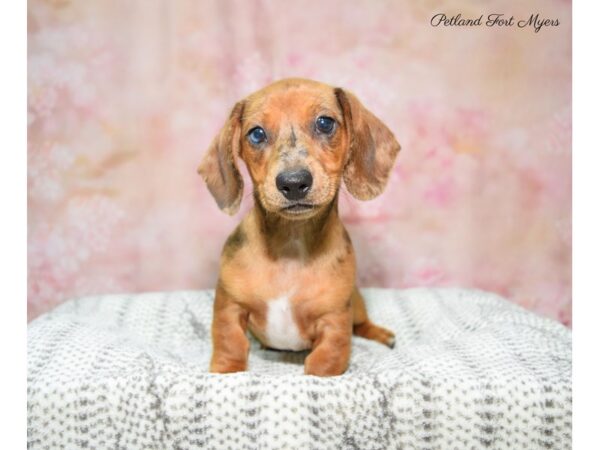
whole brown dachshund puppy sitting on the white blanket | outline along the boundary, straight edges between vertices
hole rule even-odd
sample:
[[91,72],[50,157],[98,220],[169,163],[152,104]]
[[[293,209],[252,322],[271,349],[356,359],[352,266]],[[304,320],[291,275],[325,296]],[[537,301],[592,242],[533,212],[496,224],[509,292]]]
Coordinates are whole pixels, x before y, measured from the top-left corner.
[[211,372],[246,370],[247,330],[268,348],[311,349],[304,371],[318,376],[344,373],[352,332],[393,347],[356,288],[338,191],[343,179],[360,200],[379,195],[399,150],[354,95],[315,81],[278,81],[235,105],[198,169],[228,214],[242,199],[238,158],[254,184],[221,256]]

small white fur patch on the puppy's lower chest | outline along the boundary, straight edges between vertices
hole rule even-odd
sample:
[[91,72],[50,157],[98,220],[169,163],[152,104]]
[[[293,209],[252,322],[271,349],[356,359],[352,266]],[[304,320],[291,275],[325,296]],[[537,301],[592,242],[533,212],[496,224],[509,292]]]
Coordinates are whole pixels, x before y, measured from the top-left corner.
[[310,348],[310,342],[300,336],[289,297],[278,297],[269,301],[268,305],[266,344],[279,350],[298,351]]

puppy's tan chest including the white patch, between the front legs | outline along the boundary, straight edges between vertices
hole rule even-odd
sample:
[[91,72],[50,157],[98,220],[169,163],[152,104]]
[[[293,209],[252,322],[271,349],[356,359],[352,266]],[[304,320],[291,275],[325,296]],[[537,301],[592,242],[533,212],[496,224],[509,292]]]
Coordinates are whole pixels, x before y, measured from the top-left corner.
[[250,312],[252,333],[270,348],[309,349],[315,321],[349,298],[353,272],[340,270],[335,255],[318,261],[244,256],[239,269],[227,273],[227,284]]

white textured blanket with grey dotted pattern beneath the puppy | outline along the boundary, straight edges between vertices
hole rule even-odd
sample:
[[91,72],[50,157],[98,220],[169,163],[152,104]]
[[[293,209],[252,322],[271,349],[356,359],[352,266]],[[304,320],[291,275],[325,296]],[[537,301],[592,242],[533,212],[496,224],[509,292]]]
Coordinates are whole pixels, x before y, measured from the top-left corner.
[[29,325],[28,446],[111,449],[568,449],[571,333],[489,293],[363,290],[388,349],[348,372],[261,350],[207,373],[212,291],[67,302]]

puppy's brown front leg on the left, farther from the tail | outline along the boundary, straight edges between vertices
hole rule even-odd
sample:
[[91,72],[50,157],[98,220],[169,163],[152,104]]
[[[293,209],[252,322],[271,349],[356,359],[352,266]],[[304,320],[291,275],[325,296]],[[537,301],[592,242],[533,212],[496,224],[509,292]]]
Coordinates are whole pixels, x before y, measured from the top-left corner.
[[219,284],[212,322],[213,373],[242,372],[248,363],[250,342],[246,336],[248,311],[234,302]]

